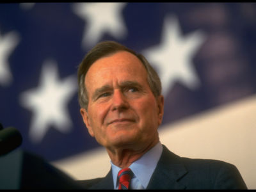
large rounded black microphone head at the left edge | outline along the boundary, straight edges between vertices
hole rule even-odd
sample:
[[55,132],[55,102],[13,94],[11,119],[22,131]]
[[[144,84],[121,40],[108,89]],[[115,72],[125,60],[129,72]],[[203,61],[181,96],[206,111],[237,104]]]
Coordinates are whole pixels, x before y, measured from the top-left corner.
[[20,132],[14,127],[7,127],[0,131],[0,156],[8,154],[22,143]]

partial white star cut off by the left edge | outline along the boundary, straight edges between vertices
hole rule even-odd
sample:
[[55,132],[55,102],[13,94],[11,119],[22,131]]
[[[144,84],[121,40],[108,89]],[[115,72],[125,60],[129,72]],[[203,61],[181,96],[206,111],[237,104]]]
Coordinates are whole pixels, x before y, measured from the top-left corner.
[[18,43],[19,35],[14,31],[4,36],[0,35],[0,84],[2,86],[7,86],[12,82],[8,57]]

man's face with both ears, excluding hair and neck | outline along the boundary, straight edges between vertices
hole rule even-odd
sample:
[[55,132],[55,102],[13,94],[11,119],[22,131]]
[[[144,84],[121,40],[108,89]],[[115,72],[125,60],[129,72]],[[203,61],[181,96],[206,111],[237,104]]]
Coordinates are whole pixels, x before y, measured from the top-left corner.
[[163,96],[154,97],[147,71],[136,56],[120,51],[100,58],[85,77],[88,111],[81,109],[91,136],[106,148],[143,147],[159,141]]

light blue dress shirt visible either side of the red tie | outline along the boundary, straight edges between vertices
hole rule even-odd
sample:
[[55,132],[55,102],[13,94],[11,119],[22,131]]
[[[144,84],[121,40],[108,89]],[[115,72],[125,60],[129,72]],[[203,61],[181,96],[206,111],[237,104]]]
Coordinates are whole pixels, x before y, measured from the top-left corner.
[[[152,147],[148,152],[146,152],[140,159],[134,161],[129,168],[131,168],[134,175],[140,180],[143,187],[146,189],[148,186],[148,182],[156,168],[157,162],[162,154],[163,146],[161,143],[157,143],[154,147]],[[120,167],[116,166],[111,162],[112,174],[113,174],[113,182],[114,186],[116,186],[117,174],[121,170]]]

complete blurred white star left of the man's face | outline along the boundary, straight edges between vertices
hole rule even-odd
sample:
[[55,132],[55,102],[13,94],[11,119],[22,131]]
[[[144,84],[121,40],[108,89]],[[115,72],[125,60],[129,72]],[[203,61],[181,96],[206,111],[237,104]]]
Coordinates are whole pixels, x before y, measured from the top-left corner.
[[60,132],[70,131],[72,122],[67,102],[77,90],[75,76],[58,80],[57,64],[45,61],[38,88],[22,93],[20,102],[33,111],[29,138],[34,143],[42,141],[50,125]]

